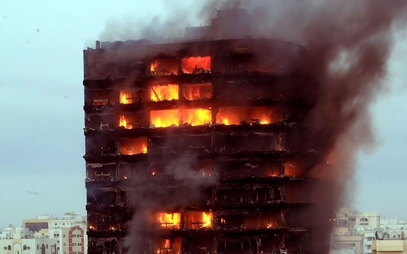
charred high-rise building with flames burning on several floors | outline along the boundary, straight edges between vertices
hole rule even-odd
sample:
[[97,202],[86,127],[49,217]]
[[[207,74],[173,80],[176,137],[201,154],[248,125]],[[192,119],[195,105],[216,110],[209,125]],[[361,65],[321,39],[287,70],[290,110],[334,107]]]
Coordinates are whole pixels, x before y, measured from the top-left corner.
[[89,253],[309,250],[304,65],[268,39],[84,50]]

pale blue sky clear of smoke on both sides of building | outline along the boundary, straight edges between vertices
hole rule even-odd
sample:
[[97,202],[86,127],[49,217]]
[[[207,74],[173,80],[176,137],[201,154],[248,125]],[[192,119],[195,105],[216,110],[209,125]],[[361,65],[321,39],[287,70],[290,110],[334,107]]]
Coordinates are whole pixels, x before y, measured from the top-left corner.
[[[136,25],[163,15],[183,20],[187,13],[175,10],[185,8],[184,2],[0,4],[0,228],[6,223],[20,226],[23,218],[45,212],[86,213],[82,50],[106,36],[106,23],[128,20]],[[206,20],[188,21],[200,22],[204,25]],[[407,47],[405,34],[397,38],[389,64],[390,90],[371,108],[378,143],[368,153],[361,152],[355,165],[353,206],[403,218],[407,203],[398,201],[407,200]]]

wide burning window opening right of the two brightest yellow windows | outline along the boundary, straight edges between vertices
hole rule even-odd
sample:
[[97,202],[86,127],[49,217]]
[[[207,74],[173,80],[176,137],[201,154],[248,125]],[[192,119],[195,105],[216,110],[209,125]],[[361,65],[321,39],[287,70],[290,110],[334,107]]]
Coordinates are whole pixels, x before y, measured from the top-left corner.
[[216,123],[229,124],[269,124],[280,121],[278,111],[270,107],[220,108]]

